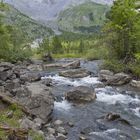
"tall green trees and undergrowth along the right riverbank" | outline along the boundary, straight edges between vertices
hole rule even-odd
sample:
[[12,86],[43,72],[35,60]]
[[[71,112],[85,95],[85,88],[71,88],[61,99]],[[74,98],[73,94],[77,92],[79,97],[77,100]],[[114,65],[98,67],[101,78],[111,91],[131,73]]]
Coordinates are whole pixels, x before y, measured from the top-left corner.
[[104,44],[109,48],[104,68],[140,77],[140,14],[136,0],[116,0],[107,13],[103,30]]

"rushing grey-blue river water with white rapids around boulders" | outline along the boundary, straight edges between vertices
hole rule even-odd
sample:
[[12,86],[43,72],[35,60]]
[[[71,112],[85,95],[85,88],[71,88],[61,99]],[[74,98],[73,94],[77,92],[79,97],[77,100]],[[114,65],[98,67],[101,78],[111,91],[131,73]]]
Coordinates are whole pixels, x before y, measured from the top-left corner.
[[[103,87],[95,77],[97,62],[86,62],[82,67],[93,72],[94,76],[70,79],[59,76],[55,70],[43,77],[53,80],[54,119],[74,123],[74,127],[68,129],[68,140],[78,140],[81,132],[88,140],[140,140],[140,91],[129,87]],[[96,101],[80,105],[66,101],[64,94],[79,85],[95,88]],[[120,114],[131,125],[104,120],[102,117],[109,112]]]

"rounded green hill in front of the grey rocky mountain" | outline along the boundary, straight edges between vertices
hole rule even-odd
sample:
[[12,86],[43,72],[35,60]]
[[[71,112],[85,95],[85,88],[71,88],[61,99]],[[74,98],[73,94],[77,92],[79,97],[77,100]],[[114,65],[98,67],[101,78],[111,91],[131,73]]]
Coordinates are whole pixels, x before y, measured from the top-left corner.
[[106,21],[107,5],[86,2],[60,12],[58,26],[60,30],[79,32],[98,32]]

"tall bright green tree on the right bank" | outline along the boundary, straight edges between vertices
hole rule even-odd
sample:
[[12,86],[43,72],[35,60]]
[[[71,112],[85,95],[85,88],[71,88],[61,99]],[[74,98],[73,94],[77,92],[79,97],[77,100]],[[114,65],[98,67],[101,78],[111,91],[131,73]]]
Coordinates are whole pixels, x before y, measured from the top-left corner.
[[[135,0],[116,0],[108,15],[109,22],[104,31],[110,56],[125,63],[134,58],[137,52],[140,24]],[[137,35],[136,35],[137,34]]]

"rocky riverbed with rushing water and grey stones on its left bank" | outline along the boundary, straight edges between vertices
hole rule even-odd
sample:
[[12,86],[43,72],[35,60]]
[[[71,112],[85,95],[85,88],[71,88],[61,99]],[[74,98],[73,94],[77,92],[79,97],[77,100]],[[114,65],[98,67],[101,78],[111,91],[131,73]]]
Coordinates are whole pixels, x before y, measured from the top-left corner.
[[100,71],[100,64],[82,59],[3,62],[0,94],[28,109],[30,117],[20,127],[38,131],[45,140],[138,140],[139,81]]

